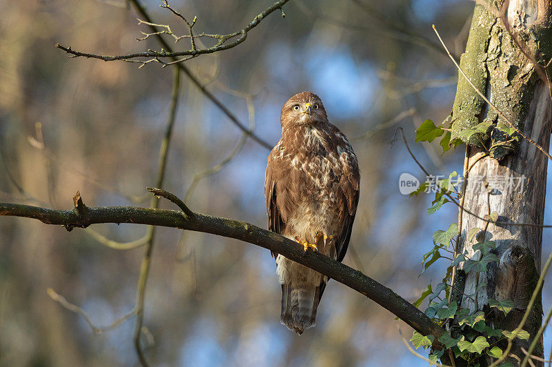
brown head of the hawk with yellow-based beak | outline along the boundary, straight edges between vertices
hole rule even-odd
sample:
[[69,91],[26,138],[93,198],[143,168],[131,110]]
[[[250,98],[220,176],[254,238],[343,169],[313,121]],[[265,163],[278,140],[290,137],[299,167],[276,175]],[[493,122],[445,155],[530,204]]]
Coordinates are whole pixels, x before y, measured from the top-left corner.
[[301,92],[288,99],[282,107],[282,128],[313,123],[327,123],[328,116],[320,97],[312,92]]

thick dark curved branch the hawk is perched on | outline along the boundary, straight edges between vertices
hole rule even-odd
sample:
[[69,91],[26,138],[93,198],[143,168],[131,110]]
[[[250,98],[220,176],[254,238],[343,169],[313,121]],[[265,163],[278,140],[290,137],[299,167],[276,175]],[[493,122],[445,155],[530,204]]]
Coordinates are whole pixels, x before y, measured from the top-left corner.
[[[164,195],[159,190],[155,193],[170,195]],[[362,293],[402,319],[418,333],[435,335],[435,348],[442,348],[437,339],[444,330],[393,290],[330,257],[313,251],[304,252],[302,246],[297,246],[291,239],[244,221],[212,217],[199,212],[186,215],[175,210],[130,206],[86,207],[86,210],[79,210],[77,214],[75,210],[52,210],[23,204],[0,203],[0,215],[39,219],[45,224],[63,225],[67,230],[75,227],[86,228],[99,223],[132,223],[193,230],[239,239],[284,255]]]

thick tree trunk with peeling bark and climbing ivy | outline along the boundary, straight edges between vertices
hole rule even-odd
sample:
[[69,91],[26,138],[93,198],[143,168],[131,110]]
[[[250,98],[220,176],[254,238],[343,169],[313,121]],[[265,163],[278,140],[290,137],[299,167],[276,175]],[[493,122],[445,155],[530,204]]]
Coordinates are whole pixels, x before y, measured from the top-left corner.
[[[540,66],[533,65],[529,58],[542,63],[551,57],[550,1],[511,0],[502,4],[503,10],[494,7],[490,2],[477,2],[460,68],[526,137],[548,152],[551,95],[546,80],[542,79],[544,71],[538,72],[536,68]],[[500,19],[501,11],[510,30]],[[467,252],[466,259],[477,261],[482,252],[474,250],[473,245],[495,241],[493,252],[500,259],[489,264],[486,271],[467,274],[466,263],[460,264],[455,269],[453,299],[472,313],[483,310],[490,315],[486,323],[494,328],[513,330],[526,311],[539,277],[542,227],[488,224],[469,212],[481,218],[496,212],[497,217],[490,217],[498,222],[543,224],[548,158],[517,133],[514,136],[519,141],[511,141],[504,132],[509,130],[506,121],[484,103],[462,74],[459,74],[452,121],[453,139],[468,143],[461,197],[468,212],[460,209],[461,235],[457,251]],[[491,123],[486,133],[471,137],[462,133],[482,122]],[[489,299],[511,299],[514,309],[504,316],[489,308]],[[523,328],[531,337],[529,341],[513,339],[506,361],[519,364],[524,359],[520,348],[528,348],[541,323],[542,304],[538,297]],[[500,346],[504,350],[506,343]],[[542,340],[533,354],[542,357]],[[491,357],[481,359],[478,362],[482,366],[493,361]],[[456,365],[463,363],[459,360]]]

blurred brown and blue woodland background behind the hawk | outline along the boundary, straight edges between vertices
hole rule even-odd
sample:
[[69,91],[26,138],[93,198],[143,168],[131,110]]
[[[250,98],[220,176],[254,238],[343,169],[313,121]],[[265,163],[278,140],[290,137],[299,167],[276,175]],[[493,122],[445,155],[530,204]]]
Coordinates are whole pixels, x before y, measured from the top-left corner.
[[[187,28],[161,1],[144,2],[157,23]],[[195,32],[243,28],[273,3],[172,0]],[[317,93],[359,158],[359,209],[345,264],[414,301],[444,275],[446,260],[423,275],[431,234],[457,221],[447,204],[426,215],[433,195],[408,197],[398,179],[425,181],[402,139],[433,175],[462,171],[464,149],[414,144],[424,119],[451,110],[457,72],[431,29],[458,57],[473,11],[467,0],[292,0],[251,30],[241,45],[186,66],[244,125],[270,144],[279,111],[302,90]],[[126,54],[159,49],[143,37],[124,0],[0,0],[0,201],[72,208],[148,206],[170,109],[171,68],[69,59],[55,48]],[[172,44],[172,40],[168,38]],[[206,41],[207,46],[210,43]],[[186,50],[189,43],[174,45]],[[193,210],[266,227],[268,150],[242,132],[181,76],[181,95],[164,188]],[[549,169],[550,170],[550,169]],[[547,200],[549,201],[549,200]],[[174,206],[161,202],[161,208]],[[549,210],[550,206],[546,208]],[[545,223],[552,221],[551,213]],[[48,297],[52,288],[109,326],[135,306],[144,247],[115,250],[97,237],[133,241],[146,226],[97,225],[95,232],[0,218],[0,365],[135,366],[135,317],[95,335],[86,321]],[[552,250],[544,230],[543,257]],[[543,304],[551,301],[545,284]],[[300,337],[279,324],[281,288],[270,252],[233,239],[159,228],[146,290],[143,335],[154,366],[424,366],[408,352],[412,330],[373,301],[330,281],[317,325]],[[422,305],[424,308],[424,305]],[[545,335],[548,354],[549,335]],[[423,353],[423,351],[420,351]]]

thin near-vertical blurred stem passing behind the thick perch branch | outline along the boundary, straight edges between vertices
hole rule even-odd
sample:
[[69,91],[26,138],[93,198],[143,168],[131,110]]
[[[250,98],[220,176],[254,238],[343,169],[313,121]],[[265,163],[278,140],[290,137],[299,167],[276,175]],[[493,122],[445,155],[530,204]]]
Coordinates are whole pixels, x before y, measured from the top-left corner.
[[[175,67],[173,71],[173,81],[172,81],[172,99],[170,102],[170,114],[168,123],[165,130],[165,136],[161,141],[161,148],[159,149],[159,166],[157,171],[157,187],[161,188],[163,186],[163,181],[165,179],[165,168],[168,157],[168,148],[170,144],[170,138],[172,137],[172,126],[175,124],[176,112],[178,107],[178,97],[180,90],[180,70]],[[159,207],[159,197],[156,195],[152,197],[150,208],[157,209]],[[140,335],[142,330],[142,325],[144,324],[144,298],[146,295],[146,282],[148,280],[148,273],[150,270],[150,260],[151,253],[153,250],[153,239],[155,237],[155,226],[148,227],[148,241],[146,243],[146,252],[144,257],[142,257],[142,262],[140,266],[140,274],[138,277],[138,286],[137,286],[137,303],[136,303],[136,324],[134,330],[134,344],[136,353],[138,354],[138,359],[142,366],[148,366],[148,360],[144,356],[144,351],[140,346]]]

